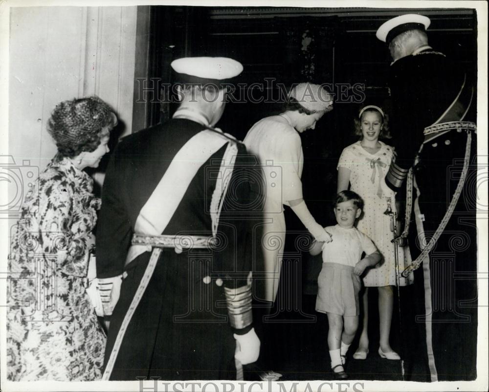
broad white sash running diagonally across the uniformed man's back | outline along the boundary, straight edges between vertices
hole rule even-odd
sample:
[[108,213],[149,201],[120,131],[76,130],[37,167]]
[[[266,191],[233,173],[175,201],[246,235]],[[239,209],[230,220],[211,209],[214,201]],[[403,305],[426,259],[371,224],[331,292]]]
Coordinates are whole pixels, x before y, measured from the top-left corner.
[[[230,141],[225,137],[216,136],[218,135],[215,131],[203,130],[189,139],[178,151],[150,198],[141,208],[134,227],[136,233],[159,235],[165,230],[202,164]],[[147,251],[148,247],[145,245],[131,246],[126,257],[126,265]]]

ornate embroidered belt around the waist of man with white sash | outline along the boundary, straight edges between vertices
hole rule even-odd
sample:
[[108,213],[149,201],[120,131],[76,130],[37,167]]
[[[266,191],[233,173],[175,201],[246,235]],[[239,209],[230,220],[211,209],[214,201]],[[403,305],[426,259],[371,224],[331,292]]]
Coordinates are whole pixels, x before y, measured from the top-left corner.
[[178,252],[177,250],[192,248],[211,249],[216,245],[217,239],[213,236],[200,235],[134,234],[131,243],[132,245],[146,245],[153,248],[175,248],[175,252]]

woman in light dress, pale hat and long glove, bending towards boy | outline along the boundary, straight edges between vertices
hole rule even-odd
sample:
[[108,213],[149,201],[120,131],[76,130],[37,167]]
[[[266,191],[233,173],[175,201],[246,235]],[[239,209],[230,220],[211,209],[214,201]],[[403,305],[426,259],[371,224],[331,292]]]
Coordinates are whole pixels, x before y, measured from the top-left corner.
[[[300,133],[314,129],[316,122],[333,110],[333,97],[321,85],[299,83],[290,90],[280,115],[262,118],[244,138],[246,151],[259,160],[264,174],[264,293],[260,299],[269,308],[276,300],[286,225],[284,205],[289,206],[313,237],[331,241],[330,235],[318,224],[302,194],[304,154]],[[260,281],[260,280],[259,280]]]

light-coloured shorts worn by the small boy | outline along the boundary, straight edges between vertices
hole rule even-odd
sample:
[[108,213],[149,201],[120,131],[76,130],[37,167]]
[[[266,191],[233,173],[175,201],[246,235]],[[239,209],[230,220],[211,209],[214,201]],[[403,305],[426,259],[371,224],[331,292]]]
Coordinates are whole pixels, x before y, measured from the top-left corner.
[[358,316],[358,292],[360,277],[353,267],[338,263],[323,263],[317,278],[316,311],[342,316]]

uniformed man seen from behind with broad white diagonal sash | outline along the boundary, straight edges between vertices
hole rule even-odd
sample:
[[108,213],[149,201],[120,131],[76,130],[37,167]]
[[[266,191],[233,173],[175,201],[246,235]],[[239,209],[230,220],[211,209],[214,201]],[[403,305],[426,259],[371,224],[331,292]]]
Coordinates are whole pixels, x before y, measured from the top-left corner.
[[105,380],[237,379],[259,355],[246,152],[215,128],[224,85],[243,67],[211,57],[171,66],[178,110],[124,138],[103,185],[97,277],[111,314]]

